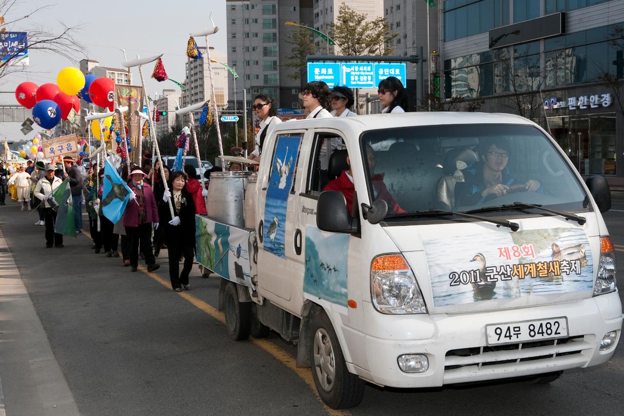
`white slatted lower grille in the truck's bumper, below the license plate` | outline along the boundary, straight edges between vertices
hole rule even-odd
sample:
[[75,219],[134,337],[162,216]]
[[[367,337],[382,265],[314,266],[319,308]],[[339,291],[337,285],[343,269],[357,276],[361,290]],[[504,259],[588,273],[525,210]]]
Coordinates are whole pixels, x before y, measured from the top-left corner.
[[[593,348],[583,335],[565,339],[450,350],[444,358],[444,382],[456,383],[479,375],[514,377],[517,372],[584,364],[583,350]],[[503,375],[504,373],[504,375]],[[519,375],[519,374],[518,374]],[[497,378],[498,378],[497,377]]]

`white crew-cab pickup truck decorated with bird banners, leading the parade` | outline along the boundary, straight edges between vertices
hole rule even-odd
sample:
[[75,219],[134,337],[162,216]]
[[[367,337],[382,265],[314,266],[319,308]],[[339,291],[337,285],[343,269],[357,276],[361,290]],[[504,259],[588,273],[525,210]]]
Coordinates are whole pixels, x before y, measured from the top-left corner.
[[334,409],[365,382],[545,383],[620,338],[610,204],[522,117],[285,122],[257,177],[213,174],[197,258],[222,277],[230,336],[295,343]]

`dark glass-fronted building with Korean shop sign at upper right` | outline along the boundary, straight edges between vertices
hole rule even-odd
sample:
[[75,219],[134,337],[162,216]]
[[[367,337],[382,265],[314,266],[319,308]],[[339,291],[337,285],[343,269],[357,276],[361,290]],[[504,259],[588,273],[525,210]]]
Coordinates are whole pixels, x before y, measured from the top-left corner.
[[443,13],[444,98],[533,119],[581,174],[624,186],[624,0],[446,0]]

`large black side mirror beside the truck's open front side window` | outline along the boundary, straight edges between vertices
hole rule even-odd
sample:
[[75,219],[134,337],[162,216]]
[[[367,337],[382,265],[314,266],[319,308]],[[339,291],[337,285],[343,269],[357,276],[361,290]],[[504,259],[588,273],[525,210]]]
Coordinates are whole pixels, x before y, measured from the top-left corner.
[[358,232],[358,219],[349,215],[347,201],[340,191],[324,191],[316,205],[316,226],[329,232]]

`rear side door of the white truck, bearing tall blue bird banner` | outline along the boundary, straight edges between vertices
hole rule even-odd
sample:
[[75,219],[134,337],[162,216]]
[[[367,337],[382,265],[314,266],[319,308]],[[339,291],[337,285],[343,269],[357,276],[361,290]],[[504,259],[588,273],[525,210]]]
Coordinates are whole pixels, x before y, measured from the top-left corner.
[[[301,181],[300,156],[305,131],[280,132],[269,139],[258,177],[258,291],[264,297],[291,299],[293,274],[291,264],[297,257],[293,248],[296,226],[296,186]],[[270,157],[266,166],[264,158]],[[299,272],[301,274],[301,272]]]

